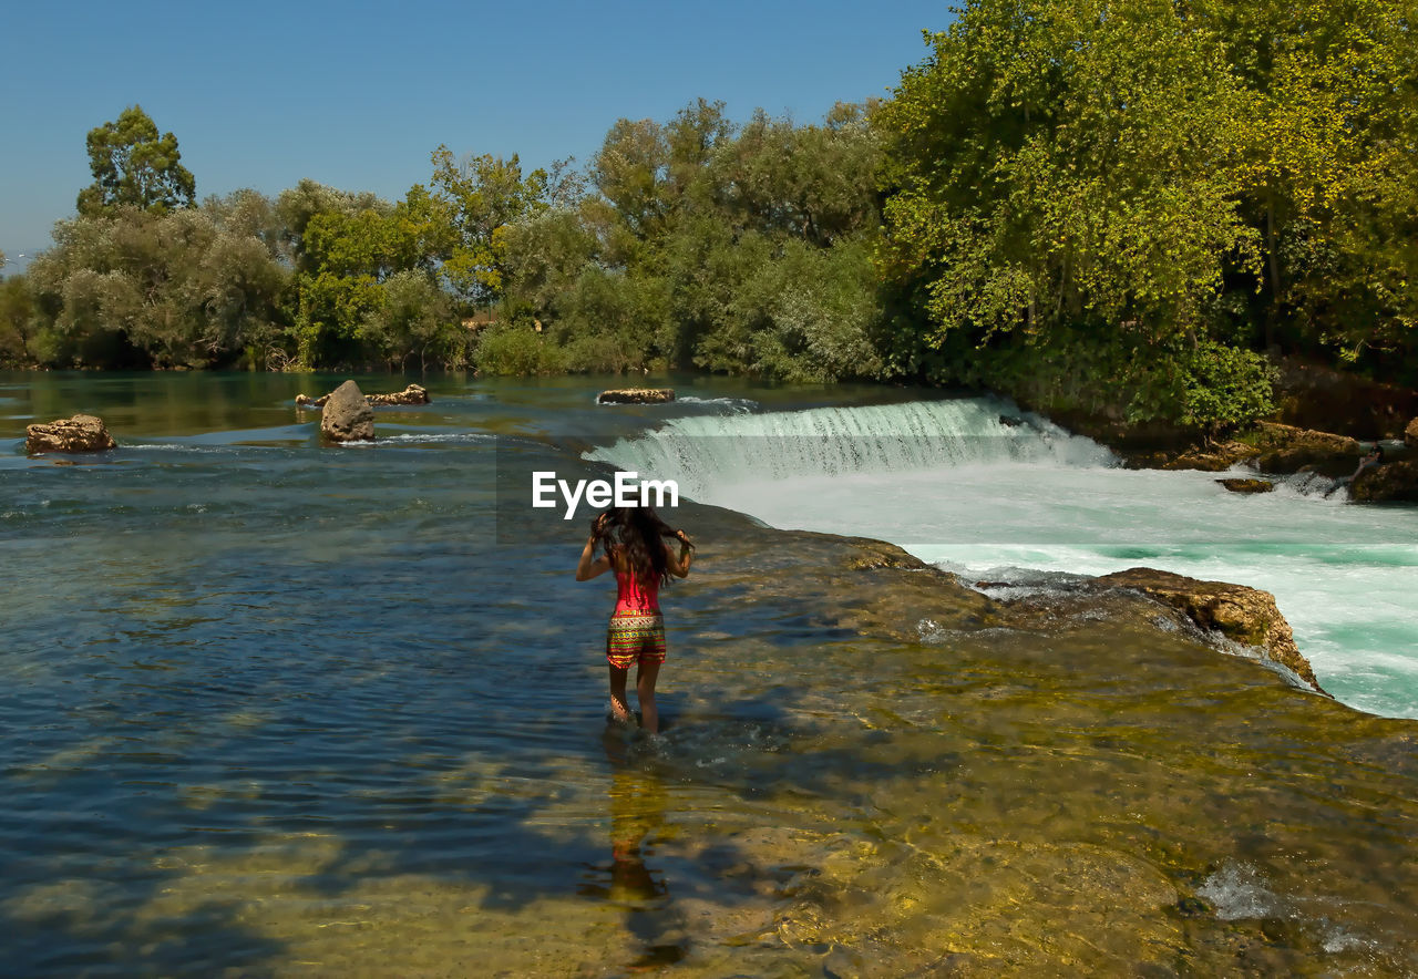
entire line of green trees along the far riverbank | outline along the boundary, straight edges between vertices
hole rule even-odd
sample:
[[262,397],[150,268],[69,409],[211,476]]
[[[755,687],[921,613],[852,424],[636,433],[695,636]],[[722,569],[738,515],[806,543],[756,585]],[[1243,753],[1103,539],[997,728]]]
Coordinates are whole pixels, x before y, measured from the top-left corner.
[[885,102],[621,119],[584,167],[440,147],[398,201],[194,200],[138,106],[0,285],[51,367],[695,367],[1224,426],[1272,358],[1418,383],[1397,0],[971,0]]

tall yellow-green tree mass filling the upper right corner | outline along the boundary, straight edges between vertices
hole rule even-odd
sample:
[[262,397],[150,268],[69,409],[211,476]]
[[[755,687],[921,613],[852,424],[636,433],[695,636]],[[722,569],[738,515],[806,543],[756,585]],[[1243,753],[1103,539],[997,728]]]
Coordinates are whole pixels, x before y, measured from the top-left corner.
[[930,43],[875,116],[892,368],[1208,428],[1271,408],[1262,337],[1411,361],[1395,0],[971,0]]

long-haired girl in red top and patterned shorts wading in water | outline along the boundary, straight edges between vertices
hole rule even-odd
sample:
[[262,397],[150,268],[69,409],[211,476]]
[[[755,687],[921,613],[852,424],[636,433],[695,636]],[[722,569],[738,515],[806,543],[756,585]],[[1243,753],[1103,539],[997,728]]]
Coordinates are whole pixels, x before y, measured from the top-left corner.
[[[679,555],[664,538],[679,541]],[[596,557],[597,547],[601,555]],[[611,714],[631,720],[625,703],[625,679],[635,663],[635,696],[641,724],[659,731],[655,708],[655,680],[665,662],[665,619],[659,613],[659,587],[689,574],[695,545],[682,530],[674,530],[648,506],[615,507],[591,521],[591,536],[581,548],[576,579],[590,581],[615,570],[615,611],[605,633],[605,659],[611,669]]]

